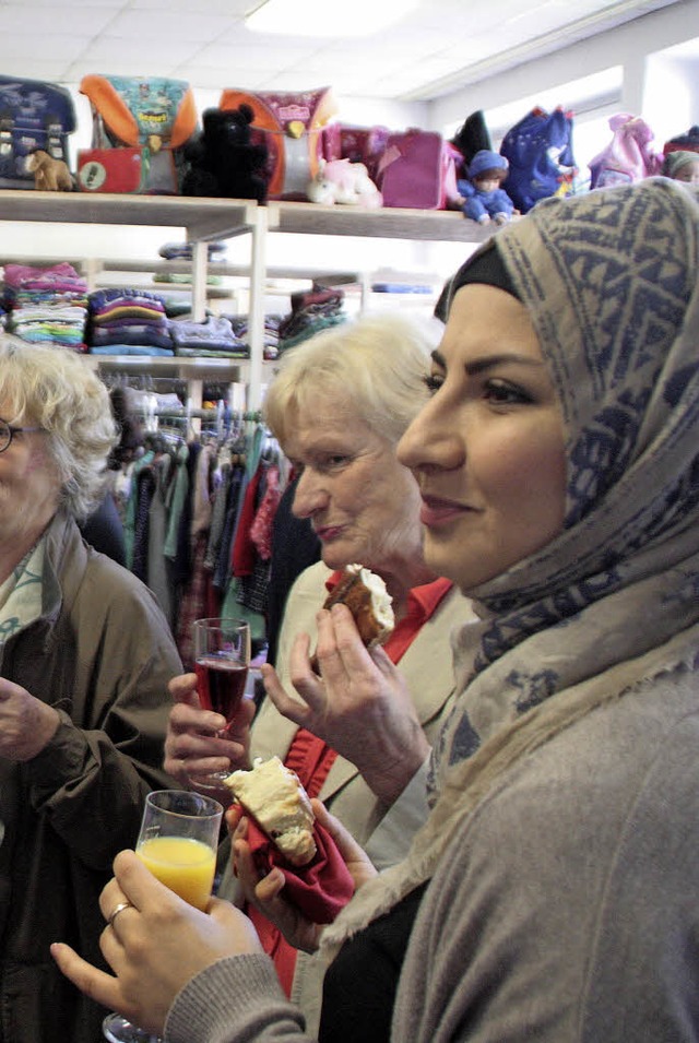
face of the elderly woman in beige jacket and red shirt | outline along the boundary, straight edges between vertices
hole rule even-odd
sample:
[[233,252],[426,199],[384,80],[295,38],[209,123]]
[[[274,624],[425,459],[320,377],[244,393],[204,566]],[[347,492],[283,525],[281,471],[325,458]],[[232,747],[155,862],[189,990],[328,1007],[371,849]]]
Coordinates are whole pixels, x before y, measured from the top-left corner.
[[395,447],[341,396],[297,410],[284,446],[300,470],[293,511],[308,518],[331,569],[359,562],[382,574],[423,567],[419,491]]

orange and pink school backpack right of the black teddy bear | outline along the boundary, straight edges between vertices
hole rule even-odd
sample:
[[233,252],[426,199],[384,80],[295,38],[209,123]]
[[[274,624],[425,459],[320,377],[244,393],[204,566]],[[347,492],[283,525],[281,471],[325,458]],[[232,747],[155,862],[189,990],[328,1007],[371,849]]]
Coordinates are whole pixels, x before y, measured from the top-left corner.
[[306,189],[318,174],[322,129],[336,111],[330,87],[292,94],[223,91],[223,111],[240,105],[252,109],[252,143],[268,149],[268,198],[307,199]]

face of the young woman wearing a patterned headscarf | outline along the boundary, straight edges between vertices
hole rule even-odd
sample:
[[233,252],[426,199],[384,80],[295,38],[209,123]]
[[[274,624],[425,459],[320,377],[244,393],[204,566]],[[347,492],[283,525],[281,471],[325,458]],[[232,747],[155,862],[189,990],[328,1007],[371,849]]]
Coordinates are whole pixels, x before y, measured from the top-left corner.
[[562,419],[526,309],[493,286],[457,293],[430,384],[398,455],[420,487],[427,565],[469,591],[561,530]]

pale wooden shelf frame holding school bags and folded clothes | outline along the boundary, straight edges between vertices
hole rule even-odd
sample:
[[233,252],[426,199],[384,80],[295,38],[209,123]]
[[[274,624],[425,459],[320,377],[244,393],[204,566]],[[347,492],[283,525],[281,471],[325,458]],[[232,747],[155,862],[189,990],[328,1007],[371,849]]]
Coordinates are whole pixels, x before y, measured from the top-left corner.
[[[322,206],[305,202],[269,202],[260,206],[252,200],[199,199],[165,195],[116,195],[83,192],[0,191],[0,222],[50,222],[79,225],[126,225],[167,227],[183,230],[192,245],[191,272],[192,313],[203,319],[206,308],[206,274],[210,266],[208,244],[247,235],[250,237],[250,262],[247,266],[229,266],[229,273],[247,275],[250,284],[249,343],[250,359],[216,358],[147,358],[153,370],[177,369],[193,381],[206,376],[232,375],[239,379],[242,367],[248,383],[248,408],[257,410],[262,399],[264,292],[268,277],[308,277],[327,280],[328,284],[362,282],[362,273],[322,273],[313,269],[273,269],[268,266],[270,235],[288,233],[311,236],[353,236],[381,239],[431,240],[443,242],[483,242],[493,234],[455,211],[360,210],[355,206]],[[64,258],[63,258],[64,260]],[[100,262],[106,266],[107,262]],[[121,262],[125,264],[126,262]],[[130,264],[130,262],[128,262]],[[171,262],[167,262],[168,265]],[[142,270],[125,266],[122,270]],[[220,262],[212,262],[215,272],[223,272]],[[88,356],[94,365],[143,367],[143,356]],[[233,376],[236,374],[237,376]]]

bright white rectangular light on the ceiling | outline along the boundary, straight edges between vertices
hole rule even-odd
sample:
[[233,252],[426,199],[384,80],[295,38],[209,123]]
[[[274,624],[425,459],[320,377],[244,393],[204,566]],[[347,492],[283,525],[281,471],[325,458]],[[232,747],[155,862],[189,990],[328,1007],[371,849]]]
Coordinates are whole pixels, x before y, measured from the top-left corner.
[[371,36],[403,15],[419,0],[266,0],[245,23],[254,33],[283,36]]

